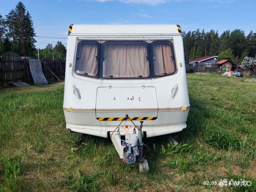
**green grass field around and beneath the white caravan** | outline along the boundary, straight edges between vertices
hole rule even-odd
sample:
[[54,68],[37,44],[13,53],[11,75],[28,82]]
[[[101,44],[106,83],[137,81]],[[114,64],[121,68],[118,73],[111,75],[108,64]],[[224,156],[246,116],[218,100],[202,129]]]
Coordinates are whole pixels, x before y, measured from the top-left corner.
[[[0,191],[256,191],[256,83],[188,74],[187,129],[146,138],[150,171],[123,164],[108,138],[65,128],[63,85],[0,90]],[[251,181],[219,187],[212,181]],[[210,185],[204,185],[208,181]],[[213,185],[212,185],[213,184]]]

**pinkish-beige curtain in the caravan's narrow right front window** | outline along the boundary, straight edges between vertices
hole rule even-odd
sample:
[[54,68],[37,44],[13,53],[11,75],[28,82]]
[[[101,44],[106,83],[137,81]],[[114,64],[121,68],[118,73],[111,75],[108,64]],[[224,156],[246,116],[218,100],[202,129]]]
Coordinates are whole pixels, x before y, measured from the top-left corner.
[[175,71],[172,47],[169,43],[156,42],[154,47],[154,68],[156,75],[171,74]]

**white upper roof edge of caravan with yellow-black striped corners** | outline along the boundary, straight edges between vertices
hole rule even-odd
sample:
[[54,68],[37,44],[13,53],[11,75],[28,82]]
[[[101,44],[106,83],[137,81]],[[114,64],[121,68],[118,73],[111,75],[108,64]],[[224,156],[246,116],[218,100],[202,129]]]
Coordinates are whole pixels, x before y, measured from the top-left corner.
[[179,25],[81,25],[71,24],[70,34],[180,34]]

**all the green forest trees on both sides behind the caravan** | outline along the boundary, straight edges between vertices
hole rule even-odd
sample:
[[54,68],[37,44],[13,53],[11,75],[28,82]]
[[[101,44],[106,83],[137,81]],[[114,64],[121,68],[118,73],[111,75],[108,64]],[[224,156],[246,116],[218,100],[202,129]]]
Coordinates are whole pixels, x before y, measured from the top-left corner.
[[[221,34],[215,30],[197,29],[183,31],[182,36],[188,60],[217,55],[219,60],[231,59],[240,64],[245,57],[256,58],[256,33],[253,31],[246,35],[240,29],[226,30]],[[5,18],[0,14],[0,55],[13,51],[20,56],[38,58],[35,37],[31,15],[22,2],[18,2]],[[44,57],[65,60],[66,48],[60,41],[54,47],[48,44],[46,48],[39,49],[39,58]]]

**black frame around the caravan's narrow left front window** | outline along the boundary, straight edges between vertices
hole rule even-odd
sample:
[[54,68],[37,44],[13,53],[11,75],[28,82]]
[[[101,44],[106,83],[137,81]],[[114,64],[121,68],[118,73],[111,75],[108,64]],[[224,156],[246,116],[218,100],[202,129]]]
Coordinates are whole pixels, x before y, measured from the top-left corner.
[[[97,43],[97,57],[98,57],[98,62],[97,62],[97,73],[95,76],[91,76],[91,75],[86,75],[86,74],[80,74],[80,73],[77,73],[76,72],[76,65],[77,65],[77,57],[78,57],[78,53],[79,53],[79,44],[80,43]],[[99,72],[100,72],[100,47],[101,47],[101,43],[98,42],[98,41],[93,41],[93,40],[81,40],[77,43],[77,46],[76,46],[76,53],[75,53],[75,65],[74,65],[74,73],[76,75],[79,75],[79,76],[86,76],[86,77],[89,77],[89,78],[94,78],[94,79],[99,79]]]

